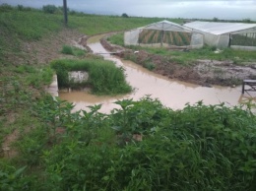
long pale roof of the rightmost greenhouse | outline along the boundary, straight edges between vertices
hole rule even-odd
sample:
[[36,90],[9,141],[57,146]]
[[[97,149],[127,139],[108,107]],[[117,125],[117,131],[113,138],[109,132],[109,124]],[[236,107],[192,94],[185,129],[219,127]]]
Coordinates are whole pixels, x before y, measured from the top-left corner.
[[224,33],[238,33],[245,30],[253,30],[251,32],[256,32],[256,24],[192,22],[185,24],[184,26],[199,32],[209,32],[216,35]]

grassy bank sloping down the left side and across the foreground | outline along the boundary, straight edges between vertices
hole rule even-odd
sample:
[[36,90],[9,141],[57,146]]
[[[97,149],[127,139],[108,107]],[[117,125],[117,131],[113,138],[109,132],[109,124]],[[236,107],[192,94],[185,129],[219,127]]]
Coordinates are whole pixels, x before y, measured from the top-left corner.
[[[156,20],[73,15],[68,30],[93,34]],[[0,190],[255,188],[256,118],[249,108],[199,102],[173,111],[145,97],[116,101],[120,109],[108,115],[97,111],[100,105],[91,106],[89,112],[72,112],[74,105],[44,91],[53,73],[50,59],[67,56],[62,38],[70,31],[64,29],[62,16],[5,7],[0,11],[0,29]],[[43,54],[49,61],[36,61],[47,49],[55,52]],[[68,49],[69,56],[82,55]],[[101,68],[91,70],[91,61]],[[70,67],[71,61],[62,62]],[[78,61],[74,67],[84,62],[88,61]],[[92,78],[108,70],[100,60],[90,60],[86,67]],[[106,85],[99,84],[101,91]]]

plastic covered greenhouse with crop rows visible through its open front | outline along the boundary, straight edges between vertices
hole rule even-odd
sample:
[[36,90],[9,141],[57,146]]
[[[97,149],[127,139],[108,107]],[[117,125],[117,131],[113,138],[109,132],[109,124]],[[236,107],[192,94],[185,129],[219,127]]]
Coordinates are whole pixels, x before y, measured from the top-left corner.
[[168,21],[125,32],[124,43],[182,48],[200,48],[204,45],[202,33]]

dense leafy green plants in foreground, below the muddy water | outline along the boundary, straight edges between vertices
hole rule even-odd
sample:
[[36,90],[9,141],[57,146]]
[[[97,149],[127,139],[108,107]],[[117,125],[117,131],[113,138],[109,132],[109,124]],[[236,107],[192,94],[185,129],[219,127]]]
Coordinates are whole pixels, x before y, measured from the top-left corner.
[[[173,111],[150,97],[115,103],[121,108],[110,115],[98,112],[100,105],[80,115],[45,96],[34,107],[40,126],[17,146],[23,175],[6,181],[19,173],[1,163],[0,181],[33,190],[253,190],[250,110],[198,102]],[[23,172],[32,165],[40,166],[36,176]]]

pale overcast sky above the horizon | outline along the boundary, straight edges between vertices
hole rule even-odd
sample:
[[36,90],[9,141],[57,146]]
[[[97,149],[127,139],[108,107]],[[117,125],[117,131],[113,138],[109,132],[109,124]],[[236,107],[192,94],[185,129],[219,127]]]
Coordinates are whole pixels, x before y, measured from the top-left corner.
[[[41,8],[62,6],[63,0],[0,0],[0,4]],[[162,18],[256,21],[256,0],[67,0],[71,10],[96,14]]]

